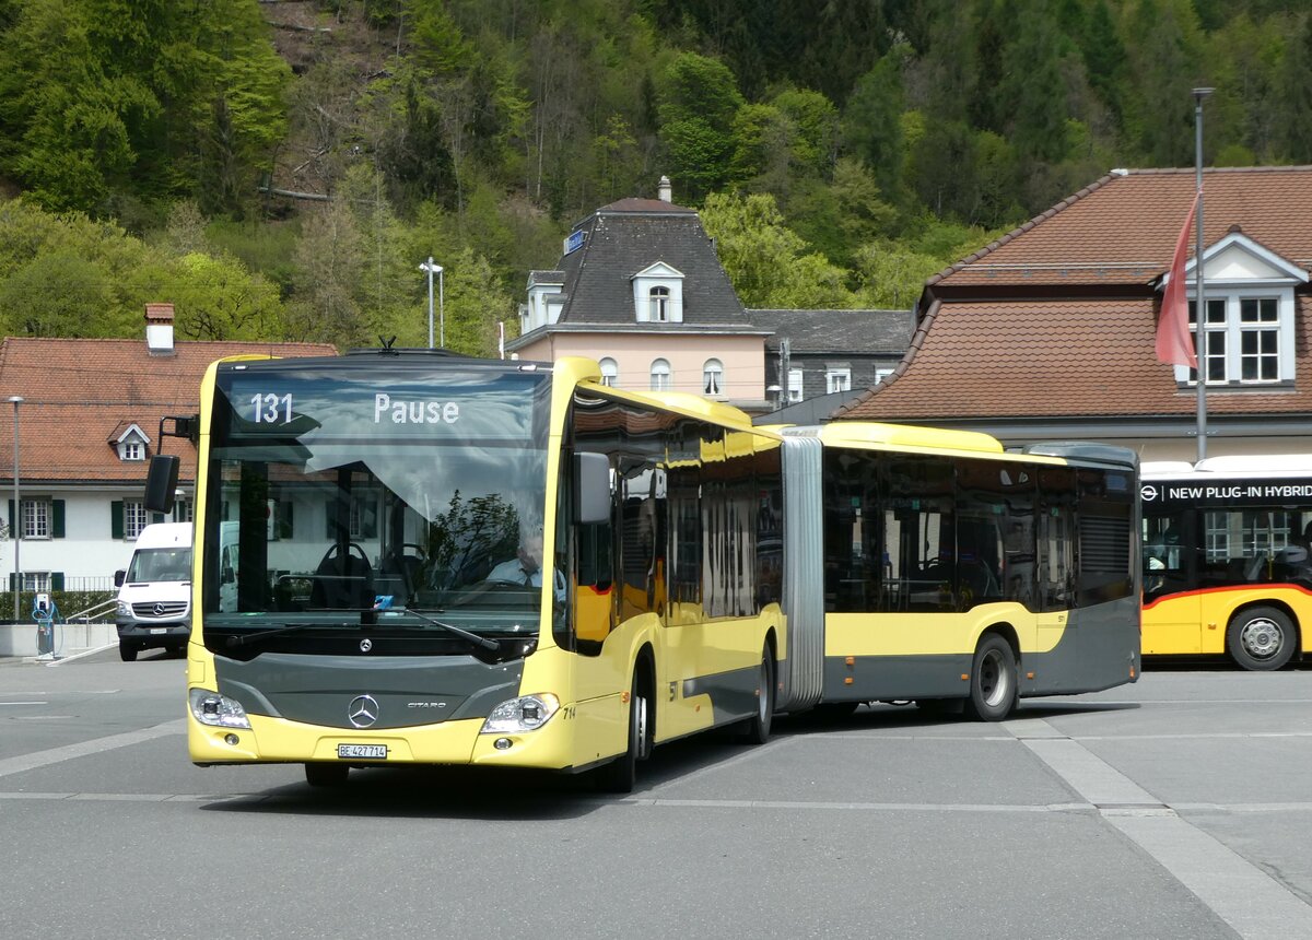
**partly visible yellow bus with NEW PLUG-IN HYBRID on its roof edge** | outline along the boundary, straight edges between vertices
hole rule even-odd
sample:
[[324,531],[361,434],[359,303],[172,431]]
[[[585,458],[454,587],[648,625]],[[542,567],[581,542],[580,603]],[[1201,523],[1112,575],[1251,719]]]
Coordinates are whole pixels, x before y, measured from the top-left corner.
[[1312,455],[1143,465],[1144,654],[1312,652]]

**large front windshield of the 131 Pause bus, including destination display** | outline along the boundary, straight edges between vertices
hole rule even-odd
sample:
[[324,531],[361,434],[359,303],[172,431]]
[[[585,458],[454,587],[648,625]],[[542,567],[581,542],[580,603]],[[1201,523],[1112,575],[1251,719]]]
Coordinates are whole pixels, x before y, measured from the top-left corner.
[[206,628],[429,611],[464,629],[535,631],[550,372],[361,366],[220,367]]

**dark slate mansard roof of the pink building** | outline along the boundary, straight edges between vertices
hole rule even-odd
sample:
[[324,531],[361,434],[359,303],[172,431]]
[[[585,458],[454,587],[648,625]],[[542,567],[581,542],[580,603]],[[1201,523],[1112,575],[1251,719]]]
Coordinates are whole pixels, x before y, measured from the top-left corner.
[[583,248],[559,265],[568,298],[560,324],[635,325],[632,277],[665,262],[684,275],[684,324],[750,326],[694,210],[621,199],[584,219],[575,227],[580,229],[586,232]]

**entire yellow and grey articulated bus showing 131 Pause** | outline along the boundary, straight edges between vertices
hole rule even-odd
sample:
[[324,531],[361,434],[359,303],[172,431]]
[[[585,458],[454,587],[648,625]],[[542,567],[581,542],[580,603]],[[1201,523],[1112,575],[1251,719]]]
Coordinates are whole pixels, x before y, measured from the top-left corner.
[[[632,788],[657,743],[914,697],[1000,718],[1138,670],[1132,456],[753,427],[588,359],[214,363],[198,416],[201,766],[476,764]],[[161,429],[163,430],[163,429]],[[152,461],[165,510],[174,456]]]

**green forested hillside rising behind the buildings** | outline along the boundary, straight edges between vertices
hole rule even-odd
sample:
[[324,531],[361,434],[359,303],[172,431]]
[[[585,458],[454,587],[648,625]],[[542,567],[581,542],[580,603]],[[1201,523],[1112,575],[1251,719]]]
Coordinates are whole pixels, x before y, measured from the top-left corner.
[[[495,349],[593,208],[909,307],[1114,166],[1312,163],[1294,0],[0,0],[0,330]],[[1183,211],[1183,207],[1182,207]]]

